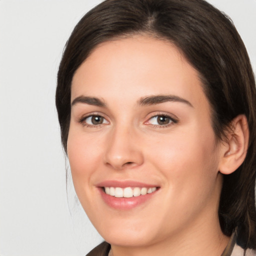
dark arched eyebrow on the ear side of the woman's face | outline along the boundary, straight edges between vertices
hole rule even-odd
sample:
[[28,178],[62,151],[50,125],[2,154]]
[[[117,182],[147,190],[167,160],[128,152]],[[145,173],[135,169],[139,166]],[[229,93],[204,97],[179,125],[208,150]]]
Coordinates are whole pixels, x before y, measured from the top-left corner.
[[167,101],[181,102],[193,107],[193,105],[188,100],[176,95],[152,95],[142,97],[138,100],[138,105],[155,105]]

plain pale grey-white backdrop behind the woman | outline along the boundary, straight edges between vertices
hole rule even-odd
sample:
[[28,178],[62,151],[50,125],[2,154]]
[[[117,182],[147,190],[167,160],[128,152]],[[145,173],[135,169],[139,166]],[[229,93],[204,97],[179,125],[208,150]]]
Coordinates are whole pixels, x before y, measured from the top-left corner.
[[[256,71],[256,0],[209,0],[234,21]],[[0,255],[85,255],[102,241],[65,185],[54,105],[74,25],[99,0],[0,0]]]

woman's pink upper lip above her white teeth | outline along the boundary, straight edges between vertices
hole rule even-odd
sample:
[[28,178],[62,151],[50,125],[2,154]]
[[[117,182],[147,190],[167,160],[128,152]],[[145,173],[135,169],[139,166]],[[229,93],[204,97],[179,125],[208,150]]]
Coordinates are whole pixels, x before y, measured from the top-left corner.
[[98,187],[158,187],[159,185],[153,184],[153,183],[144,183],[144,182],[139,182],[135,180],[105,180],[101,181],[96,184]]

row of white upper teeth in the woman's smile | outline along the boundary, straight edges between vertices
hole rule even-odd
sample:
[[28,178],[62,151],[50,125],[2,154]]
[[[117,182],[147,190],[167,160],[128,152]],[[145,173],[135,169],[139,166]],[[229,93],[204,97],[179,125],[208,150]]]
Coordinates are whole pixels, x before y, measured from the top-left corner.
[[113,187],[113,186],[105,186],[105,193],[112,195],[114,197],[132,197],[144,195],[146,193],[152,193],[156,190],[156,187]]

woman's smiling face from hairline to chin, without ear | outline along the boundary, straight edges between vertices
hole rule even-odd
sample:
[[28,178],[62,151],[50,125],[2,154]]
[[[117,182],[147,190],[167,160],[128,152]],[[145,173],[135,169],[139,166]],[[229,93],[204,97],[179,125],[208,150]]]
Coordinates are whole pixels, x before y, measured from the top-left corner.
[[146,36],[98,45],[73,76],[71,104],[75,191],[106,241],[148,245],[216,225],[209,103],[175,46]]

